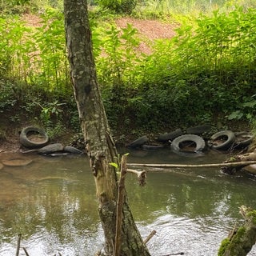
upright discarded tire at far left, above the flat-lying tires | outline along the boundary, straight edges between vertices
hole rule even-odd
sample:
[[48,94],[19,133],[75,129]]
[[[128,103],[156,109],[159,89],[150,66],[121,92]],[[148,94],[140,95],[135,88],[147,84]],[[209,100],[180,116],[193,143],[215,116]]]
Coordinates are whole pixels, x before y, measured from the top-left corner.
[[26,146],[26,148],[29,149],[35,149],[46,146],[49,142],[49,137],[44,130],[29,126],[22,129],[19,141],[22,146]]

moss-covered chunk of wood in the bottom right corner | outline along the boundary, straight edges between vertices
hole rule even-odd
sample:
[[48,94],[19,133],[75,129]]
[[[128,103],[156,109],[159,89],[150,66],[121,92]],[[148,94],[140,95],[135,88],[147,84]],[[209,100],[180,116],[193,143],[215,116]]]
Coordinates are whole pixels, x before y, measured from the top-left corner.
[[246,256],[256,242],[256,210],[240,207],[245,224],[234,228],[228,238],[222,241],[218,256]]

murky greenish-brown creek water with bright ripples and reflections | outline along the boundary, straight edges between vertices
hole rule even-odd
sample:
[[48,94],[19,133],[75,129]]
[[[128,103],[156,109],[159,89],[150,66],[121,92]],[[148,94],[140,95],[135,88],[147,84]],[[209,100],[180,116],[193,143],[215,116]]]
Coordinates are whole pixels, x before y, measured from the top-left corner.
[[[128,162],[202,164],[222,162],[229,156],[209,151],[178,155],[170,150],[130,152]],[[0,154],[0,162],[24,158]],[[84,156],[43,157],[27,166],[0,170],[0,255],[13,256],[18,234],[30,256],[92,256],[102,247],[94,178]],[[147,174],[138,186],[126,175],[130,208],[142,237],[154,256],[176,254],[213,256],[234,225],[242,223],[238,207],[256,208],[256,179],[239,172],[222,174],[219,168],[181,169]],[[19,255],[26,255],[21,249]],[[248,255],[256,255],[256,247]],[[139,255],[138,255],[139,256]]]

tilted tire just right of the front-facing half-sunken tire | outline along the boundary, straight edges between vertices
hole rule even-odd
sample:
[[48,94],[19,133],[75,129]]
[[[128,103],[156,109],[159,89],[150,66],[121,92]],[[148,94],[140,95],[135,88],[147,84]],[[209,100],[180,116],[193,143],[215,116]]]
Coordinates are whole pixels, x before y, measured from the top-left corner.
[[[214,142],[218,140],[224,141],[219,144],[214,144]],[[212,135],[210,137],[210,141],[208,142],[210,147],[214,150],[229,150],[231,146],[234,145],[235,135],[231,130],[221,130],[218,133]]]

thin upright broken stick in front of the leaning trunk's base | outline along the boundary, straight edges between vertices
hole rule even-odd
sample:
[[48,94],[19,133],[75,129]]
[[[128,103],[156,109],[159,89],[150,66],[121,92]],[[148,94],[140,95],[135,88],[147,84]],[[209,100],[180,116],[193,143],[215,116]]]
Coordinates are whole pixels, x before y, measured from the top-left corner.
[[114,256],[120,255],[121,243],[122,243],[122,206],[125,196],[125,179],[126,179],[126,159],[127,156],[122,156],[121,162],[121,174],[118,182],[118,202],[117,202],[117,217],[116,217],[116,230],[115,230],[115,244],[114,244]]

